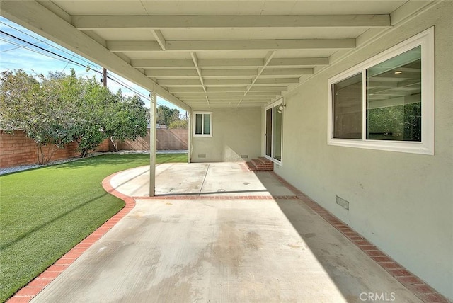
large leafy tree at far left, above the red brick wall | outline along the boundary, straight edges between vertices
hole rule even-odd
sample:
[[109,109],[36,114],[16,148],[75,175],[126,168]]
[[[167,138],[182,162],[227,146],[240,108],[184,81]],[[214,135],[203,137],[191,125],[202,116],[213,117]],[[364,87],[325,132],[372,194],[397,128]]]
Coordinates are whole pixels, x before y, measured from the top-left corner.
[[38,146],[38,163],[47,164],[58,148],[72,141],[74,105],[59,95],[67,79],[38,79],[42,84],[23,70],[1,73],[0,128],[23,130]]

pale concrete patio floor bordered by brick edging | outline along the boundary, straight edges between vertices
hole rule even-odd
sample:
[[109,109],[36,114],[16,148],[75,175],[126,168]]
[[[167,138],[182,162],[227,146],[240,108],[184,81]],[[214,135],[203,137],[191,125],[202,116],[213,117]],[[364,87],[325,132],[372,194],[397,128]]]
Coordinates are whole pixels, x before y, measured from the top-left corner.
[[273,173],[161,164],[156,176],[156,198],[149,167],[111,178],[135,207],[32,302],[421,302]]

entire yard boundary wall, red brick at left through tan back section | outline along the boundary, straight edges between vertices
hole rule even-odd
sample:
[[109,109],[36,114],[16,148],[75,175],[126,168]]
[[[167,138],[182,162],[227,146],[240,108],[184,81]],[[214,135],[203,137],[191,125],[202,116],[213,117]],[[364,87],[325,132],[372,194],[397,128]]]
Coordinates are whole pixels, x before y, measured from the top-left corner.
[[[158,150],[188,149],[188,130],[156,130],[156,148]],[[96,151],[106,152],[112,149],[106,139]],[[76,151],[77,144],[72,142],[64,149],[57,149],[53,160],[67,159],[80,156]],[[120,150],[149,150],[149,130],[147,137],[134,141],[127,140],[118,144]],[[38,147],[26,137],[25,133],[17,130],[12,134],[0,130],[0,168],[38,163]]]

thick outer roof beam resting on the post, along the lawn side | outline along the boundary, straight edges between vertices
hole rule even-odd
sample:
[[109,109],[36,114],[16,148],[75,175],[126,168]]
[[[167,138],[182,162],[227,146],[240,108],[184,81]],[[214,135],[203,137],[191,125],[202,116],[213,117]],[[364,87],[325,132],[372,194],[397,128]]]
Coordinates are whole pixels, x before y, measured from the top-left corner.
[[157,93],[162,98],[178,105],[184,110],[190,106],[168,93],[147,76],[139,72],[127,62],[112,54],[96,40],[88,37],[71,24],[59,18],[36,1],[1,1],[1,16],[32,30],[63,47],[86,57],[116,74],[125,77],[134,84]]

